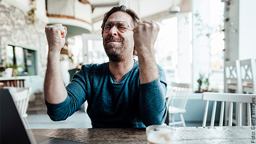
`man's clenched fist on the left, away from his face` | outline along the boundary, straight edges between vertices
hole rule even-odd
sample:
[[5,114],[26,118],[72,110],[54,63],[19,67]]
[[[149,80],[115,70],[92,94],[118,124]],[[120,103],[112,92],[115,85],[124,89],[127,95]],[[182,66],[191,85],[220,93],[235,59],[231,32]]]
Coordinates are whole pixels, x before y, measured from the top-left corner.
[[62,24],[54,24],[45,27],[45,33],[49,45],[49,52],[60,52],[65,44],[67,27]]

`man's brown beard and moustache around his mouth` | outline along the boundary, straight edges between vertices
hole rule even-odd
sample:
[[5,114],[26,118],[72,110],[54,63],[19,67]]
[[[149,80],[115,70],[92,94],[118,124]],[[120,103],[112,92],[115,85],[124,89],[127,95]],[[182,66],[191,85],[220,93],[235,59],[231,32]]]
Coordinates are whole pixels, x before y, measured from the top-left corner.
[[[120,46],[114,43],[107,43],[109,41],[117,41]],[[128,43],[123,39],[123,37],[110,37],[103,40],[103,46],[105,52],[112,62],[122,62],[128,57]]]

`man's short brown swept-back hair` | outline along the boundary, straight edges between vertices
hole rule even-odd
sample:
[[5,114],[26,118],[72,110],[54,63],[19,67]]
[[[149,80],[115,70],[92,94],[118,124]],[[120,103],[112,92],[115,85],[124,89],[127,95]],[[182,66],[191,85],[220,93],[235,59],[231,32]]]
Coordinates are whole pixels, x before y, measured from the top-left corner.
[[[137,24],[139,22],[139,16],[136,14],[136,12],[134,10],[126,7],[125,5],[120,5],[120,6],[113,7],[110,11],[108,11],[108,12],[106,12],[104,14],[103,22],[102,22],[102,25],[101,25],[102,29],[104,29],[104,22],[107,21],[109,16],[111,16],[114,12],[117,12],[117,11],[122,11],[122,12],[125,12],[128,15],[132,16],[132,18],[133,18],[133,26],[134,27],[137,26]],[[103,31],[101,31],[101,34],[103,35]]]

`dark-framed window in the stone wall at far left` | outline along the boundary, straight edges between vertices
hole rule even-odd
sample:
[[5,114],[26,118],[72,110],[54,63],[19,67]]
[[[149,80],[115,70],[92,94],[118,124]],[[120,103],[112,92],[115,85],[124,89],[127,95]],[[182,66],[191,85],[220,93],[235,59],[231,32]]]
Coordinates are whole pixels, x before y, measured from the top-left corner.
[[36,75],[36,51],[8,45],[6,62],[8,66],[17,69],[17,75]]

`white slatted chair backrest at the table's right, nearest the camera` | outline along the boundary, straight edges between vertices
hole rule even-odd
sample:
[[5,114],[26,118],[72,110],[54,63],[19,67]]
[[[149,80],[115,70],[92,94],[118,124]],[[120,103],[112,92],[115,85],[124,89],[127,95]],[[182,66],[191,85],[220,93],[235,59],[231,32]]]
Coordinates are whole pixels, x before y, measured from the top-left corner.
[[250,110],[250,103],[255,103],[256,95],[252,94],[237,94],[237,93],[217,93],[217,92],[204,92],[202,94],[202,100],[206,100],[206,107],[204,112],[203,124],[202,126],[206,126],[206,118],[208,113],[208,106],[209,101],[213,102],[213,108],[211,113],[211,124],[210,126],[214,126],[215,121],[215,114],[216,114],[216,106],[217,101],[221,101],[221,112],[220,112],[220,121],[219,126],[223,126],[223,116],[224,116],[224,107],[225,102],[229,103],[229,117],[228,117],[228,126],[232,126],[232,119],[233,119],[233,102],[238,103],[238,126],[242,125],[242,103],[247,103],[247,120],[248,126],[251,125],[251,110]]

